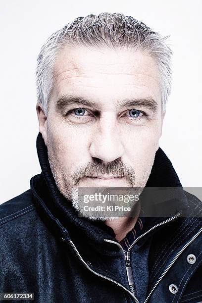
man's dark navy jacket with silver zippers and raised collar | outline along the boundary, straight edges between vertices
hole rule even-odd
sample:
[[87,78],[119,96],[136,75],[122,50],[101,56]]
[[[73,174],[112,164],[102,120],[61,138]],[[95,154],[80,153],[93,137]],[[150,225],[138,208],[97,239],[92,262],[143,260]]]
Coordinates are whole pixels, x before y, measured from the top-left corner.
[[[78,217],[60,194],[40,134],[37,150],[42,173],[0,205],[0,292],[34,293],[40,303],[202,302],[199,199],[183,191],[175,213],[147,218],[125,252],[112,228]],[[181,186],[161,149],[147,183],[154,184]]]

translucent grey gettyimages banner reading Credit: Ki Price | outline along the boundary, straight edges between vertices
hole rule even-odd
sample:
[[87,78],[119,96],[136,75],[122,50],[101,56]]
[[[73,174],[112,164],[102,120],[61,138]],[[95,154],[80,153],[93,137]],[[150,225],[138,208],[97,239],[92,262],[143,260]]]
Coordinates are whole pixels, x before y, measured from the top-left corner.
[[[186,197],[190,192],[202,200],[202,188],[80,187],[74,197],[74,206],[78,216],[95,219],[134,217],[140,208],[141,215],[149,217],[170,217],[179,211],[182,216],[202,216],[202,209],[189,211]],[[183,208],[187,211],[184,212]]]

